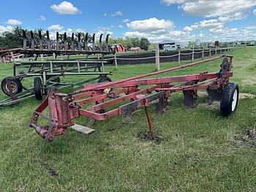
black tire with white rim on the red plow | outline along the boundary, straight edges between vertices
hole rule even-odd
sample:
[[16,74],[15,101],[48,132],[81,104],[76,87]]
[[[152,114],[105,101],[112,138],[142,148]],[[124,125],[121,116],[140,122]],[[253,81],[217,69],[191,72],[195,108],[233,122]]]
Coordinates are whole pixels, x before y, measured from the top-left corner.
[[[235,94],[236,92],[236,94]],[[236,103],[233,103],[234,97]],[[239,87],[236,82],[227,82],[222,90],[222,96],[220,99],[220,112],[223,116],[227,117],[233,115],[238,107],[239,99]],[[236,104],[236,106],[234,106]]]

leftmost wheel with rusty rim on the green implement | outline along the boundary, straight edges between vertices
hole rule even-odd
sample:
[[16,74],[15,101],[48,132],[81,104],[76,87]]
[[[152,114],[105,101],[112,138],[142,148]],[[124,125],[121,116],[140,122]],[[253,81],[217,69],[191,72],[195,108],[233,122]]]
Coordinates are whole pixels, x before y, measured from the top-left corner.
[[4,80],[1,81],[1,90],[6,94],[7,96],[11,96],[10,93],[16,95],[20,93],[23,89],[22,83],[18,79],[10,79],[10,88],[8,85],[7,79],[10,79],[10,77],[4,78]]

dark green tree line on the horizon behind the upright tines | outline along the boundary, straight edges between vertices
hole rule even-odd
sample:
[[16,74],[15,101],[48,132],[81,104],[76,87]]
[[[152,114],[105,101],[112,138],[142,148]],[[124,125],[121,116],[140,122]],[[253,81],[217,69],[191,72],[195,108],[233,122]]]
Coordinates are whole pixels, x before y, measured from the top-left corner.
[[[40,30],[40,29],[39,29]],[[29,36],[30,31],[25,30],[26,34]],[[38,38],[38,30],[33,31],[34,37]],[[42,33],[42,37],[46,37],[45,33]],[[80,33],[81,42],[85,41],[86,34]],[[78,39],[78,33],[75,33],[75,39]],[[37,40],[37,39],[36,39]],[[64,34],[59,34],[59,42],[64,42]],[[67,42],[71,42],[71,37],[67,37]],[[92,36],[89,35],[89,42],[92,42]],[[96,44],[99,45],[99,39],[96,40]],[[131,47],[140,47],[142,50],[148,50],[148,46],[151,43],[147,38],[118,38],[109,39],[109,45],[121,44],[129,50]],[[23,28],[15,27],[12,31],[5,31],[0,34],[0,49],[12,49],[16,47],[23,46]]]

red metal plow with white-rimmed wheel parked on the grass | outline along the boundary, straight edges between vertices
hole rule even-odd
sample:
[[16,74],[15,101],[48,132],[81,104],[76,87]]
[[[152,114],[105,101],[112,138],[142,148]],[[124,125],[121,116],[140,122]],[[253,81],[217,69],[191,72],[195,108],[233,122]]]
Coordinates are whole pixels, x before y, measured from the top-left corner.
[[[229,82],[230,77],[233,76],[233,72],[231,72],[232,56],[226,56],[223,59],[221,69],[217,73],[202,72],[145,79],[145,77],[204,64],[218,58],[221,57],[209,58],[205,61],[176,66],[116,82],[84,85],[83,89],[72,94],[59,93],[58,88],[53,87],[46,99],[33,113],[29,126],[34,128],[37,134],[47,142],[52,142],[54,137],[64,134],[68,127],[74,126],[72,120],[80,116],[93,120],[106,120],[115,115],[129,116],[139,107],[145,107],[149,133],[154,139],[155,133],[148,109],[150,102],[158,100],[156,110],[163,112],[171,94],[183,91],[184,104],[187,107],[195,107],[197,91],[200,89],[208,91],[210,99],[220,101],[222,115],[231,115],[236,111],[238,104],[238,85]],[[108,93],[103,91],[106,89],[109,90]],[[91,106],[91,104],[95,105]],[[116,107],[117,105],[118,107]],[[47,107],[49,107],[49,116],[43,113]],[[108,110],[109,108],[110,110]],[[49,125],[39,125],[39,118],[48,120]]]

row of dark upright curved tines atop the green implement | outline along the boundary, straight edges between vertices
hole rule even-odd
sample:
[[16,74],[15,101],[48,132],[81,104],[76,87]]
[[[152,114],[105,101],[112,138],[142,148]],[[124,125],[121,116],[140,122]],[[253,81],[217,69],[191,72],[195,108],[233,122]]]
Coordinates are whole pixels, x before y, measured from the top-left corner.
[[[61,38],[60,38],[61,37]],[[23,49],[20,53],[27,55],[36,55],[36,58],[40,54],[55,54],[57,55],[74,55],[84,54],[86,58],[91,54],[111,54],[114,53],[111,46],[108,45],[109,34],[106,36],[105,44],[102,42],[103,34],[99,36],[99,45],[96,45],[95,34],[90,36],[86,33],[85,37],[81,37],[78,33],[77,38],[72,33],[71,39],[67,37],[65,32],[60,35],[56,32],[56,39],[51,40],[49,31],[46,31],[46,38],[42,37],[42,31],[38,31],[38,37],[34,37],[33,31],[30,31],[30,36],[26,35],[26,31],[23,31]]]

